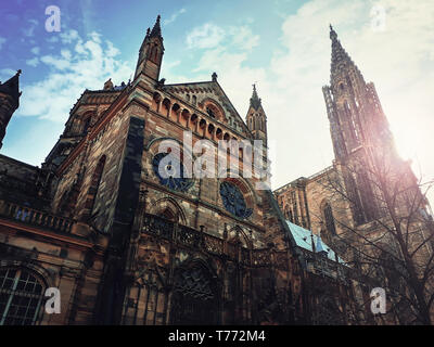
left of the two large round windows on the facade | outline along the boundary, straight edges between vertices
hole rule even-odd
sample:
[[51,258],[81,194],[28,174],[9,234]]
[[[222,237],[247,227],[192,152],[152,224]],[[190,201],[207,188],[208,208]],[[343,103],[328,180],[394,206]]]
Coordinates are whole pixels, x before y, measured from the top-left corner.
[[161,165],[162,159],[167,155],[169,153],[155,154],[152,159],[154,174],[158,177],[161,184],[176,191],[187,192],[193,185],[193,180],[184,177],[186,170],[182,163],[174,156],[166,159],[164,165]]

